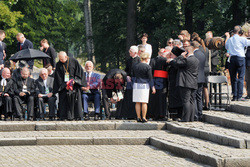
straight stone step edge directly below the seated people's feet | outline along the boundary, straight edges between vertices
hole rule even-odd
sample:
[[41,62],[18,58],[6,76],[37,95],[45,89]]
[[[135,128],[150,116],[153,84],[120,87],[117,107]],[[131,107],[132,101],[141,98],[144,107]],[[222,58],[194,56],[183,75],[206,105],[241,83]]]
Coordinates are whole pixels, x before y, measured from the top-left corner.
[[0,122],[3,131],[96,131],[96,130],[162,130],[165,122],[150,121],[32,121],[32,122]]

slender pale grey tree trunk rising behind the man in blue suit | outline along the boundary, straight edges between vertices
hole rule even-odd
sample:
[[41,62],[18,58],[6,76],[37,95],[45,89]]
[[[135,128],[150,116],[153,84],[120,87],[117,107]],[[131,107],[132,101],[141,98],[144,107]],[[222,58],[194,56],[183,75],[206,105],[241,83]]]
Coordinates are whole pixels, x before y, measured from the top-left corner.
[[85,18],[85,28],[86,28],[86,49],[88,53],[88,59],[94,64],[94,42],[93,42],[93,32],[92,32],[92,20],[91,20],[91,2],[90,0],[84,1],[84,18]]

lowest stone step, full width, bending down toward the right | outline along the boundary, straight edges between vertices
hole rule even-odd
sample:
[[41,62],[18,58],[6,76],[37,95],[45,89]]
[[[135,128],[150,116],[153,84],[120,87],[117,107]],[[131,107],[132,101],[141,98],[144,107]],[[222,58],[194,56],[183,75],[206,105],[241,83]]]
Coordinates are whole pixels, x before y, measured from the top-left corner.
[[[166,130],[109,131],[19,131],[1,132],[0,150],[22,145],[152,145],[177,156],[191,158],[211,166],[247,166],[250,149],[237,149],[194,137],[173,134]],[[15,146],[15,147],[12,147]],[[29,146],[28,146],[29,147]],[[2,158],[1,158],[2,159]],[[167,162],[166,162],[167,164]]]

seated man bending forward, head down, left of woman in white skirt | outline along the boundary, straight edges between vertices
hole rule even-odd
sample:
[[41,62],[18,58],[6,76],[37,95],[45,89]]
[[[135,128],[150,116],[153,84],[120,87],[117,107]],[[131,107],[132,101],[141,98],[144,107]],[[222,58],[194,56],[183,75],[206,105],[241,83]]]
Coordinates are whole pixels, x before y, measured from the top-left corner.
[[[117,103],[116,117],[120,116],[121,104],[124,97],[124,89],[127,83],[127,73],[120,69],[110,70],[103,78],[102,95],[105,115],[111,119],[108,99],[111,103]],[[116,99],[114,98],[116,97]]]

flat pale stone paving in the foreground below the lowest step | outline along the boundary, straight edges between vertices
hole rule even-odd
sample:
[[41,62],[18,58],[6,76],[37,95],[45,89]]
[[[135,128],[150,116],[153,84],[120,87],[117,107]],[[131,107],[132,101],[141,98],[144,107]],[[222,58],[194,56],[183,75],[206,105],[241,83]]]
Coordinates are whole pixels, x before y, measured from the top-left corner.
[[153,146],[11,146],[0,147],[0,166],[204,166]]

